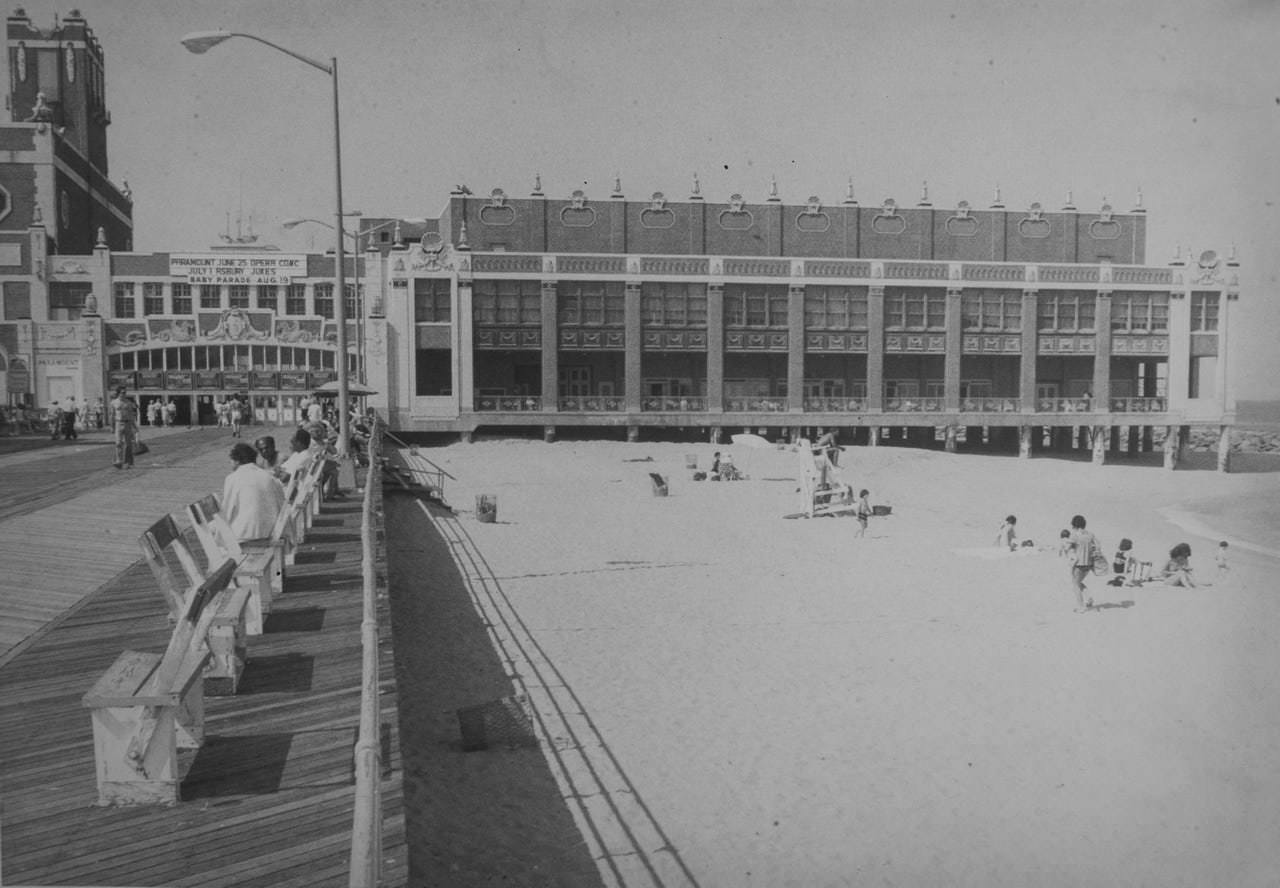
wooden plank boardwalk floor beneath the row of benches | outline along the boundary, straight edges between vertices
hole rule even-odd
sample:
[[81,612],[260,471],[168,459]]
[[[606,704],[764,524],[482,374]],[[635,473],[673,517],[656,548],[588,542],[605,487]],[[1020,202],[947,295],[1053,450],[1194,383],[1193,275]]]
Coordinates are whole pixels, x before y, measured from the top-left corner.
[[[200,431],[151,440],[132,472],[111,468],[101,447],[68,445],[51,463],[0,457],[0,516],[6,507],[10,516],[0,518],[0,884],[346,885],[361,668],[355,494],[325,503],[266,633],[248,640],[239,694],[206,697],[206,741],[183,754],[182,802],[95,805],[81,696],[122,650],[160,651],[169,636],[137,535],[220,489],[233,443]],[[58,482],[14,513],[8,495],[38,488],[40,475]],[[404,819],[380,610],[383,884],[397,885],[407,871]]]

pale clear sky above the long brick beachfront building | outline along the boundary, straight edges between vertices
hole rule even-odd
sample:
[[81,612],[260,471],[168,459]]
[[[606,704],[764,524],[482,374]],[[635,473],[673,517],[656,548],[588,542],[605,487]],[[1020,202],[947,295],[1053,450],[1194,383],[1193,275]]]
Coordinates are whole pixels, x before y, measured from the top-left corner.
[[[73,5],[24,5],[51,27]],[[343,193],[435,216],[449,191],[741,193],[864,205],[1038,201],[1117,211],[1142,192],[1147,262],[1240,260],[1242,399],[1280,399],[1280,3],[1274,0],[84,0],[106,52],[110,175],[134,247],[246,230],[323,250],[333,93],[232,40],[338,59]],[[1233,354],[1236,348],[1233,347]]]

